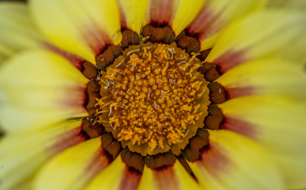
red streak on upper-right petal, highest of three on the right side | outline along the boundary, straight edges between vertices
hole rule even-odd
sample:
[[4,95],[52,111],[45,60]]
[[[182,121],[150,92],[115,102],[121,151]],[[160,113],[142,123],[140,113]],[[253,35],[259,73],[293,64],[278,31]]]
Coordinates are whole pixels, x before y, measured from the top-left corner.
[[246,60],[247,59],[243,51],[228,51],[215,59],[212,64],[218,66],[218,71],[220,73],[225,73],[227,70],[243,63]]

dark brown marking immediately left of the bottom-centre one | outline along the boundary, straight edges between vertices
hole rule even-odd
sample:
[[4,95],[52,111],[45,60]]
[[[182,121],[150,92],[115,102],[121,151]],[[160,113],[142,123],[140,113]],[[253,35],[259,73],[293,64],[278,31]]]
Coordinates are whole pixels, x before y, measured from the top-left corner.
[[144,156],[141,156],[138,152],[131,152],[128,146],[121,152],[121,159],[127,165],[127,167],[131,168],[131,170],[137,170],[142,173],[144,170]]

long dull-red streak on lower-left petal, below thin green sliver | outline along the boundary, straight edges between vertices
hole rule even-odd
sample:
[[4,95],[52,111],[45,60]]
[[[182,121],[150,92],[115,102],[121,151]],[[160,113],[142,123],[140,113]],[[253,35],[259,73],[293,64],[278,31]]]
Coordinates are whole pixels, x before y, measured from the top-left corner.
[[51,152],[50,155],[52,156],[72,145],[76,145],[77,143],[85,141],[87,137],[84,134],[81,134],[81,131],[82,126],[59,135],[56,137],[56,142],[46,151]]

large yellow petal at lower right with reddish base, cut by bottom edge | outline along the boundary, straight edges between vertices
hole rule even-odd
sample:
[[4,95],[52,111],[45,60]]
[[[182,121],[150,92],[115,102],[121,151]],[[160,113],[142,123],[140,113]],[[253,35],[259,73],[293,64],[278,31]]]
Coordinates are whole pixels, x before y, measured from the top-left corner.
[[189,164],[203,189],[284,189],[268,153],[231,131],[209,131],[209,147]]

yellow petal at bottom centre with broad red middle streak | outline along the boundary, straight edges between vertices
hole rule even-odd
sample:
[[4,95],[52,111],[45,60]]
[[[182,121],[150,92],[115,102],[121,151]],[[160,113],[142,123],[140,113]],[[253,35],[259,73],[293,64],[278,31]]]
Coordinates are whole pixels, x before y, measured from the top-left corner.
[[200,189],[196,181],[176,160],[173,166],[152,170],[147,166],[141,176],[138,190],[154,190],[154,189]]

